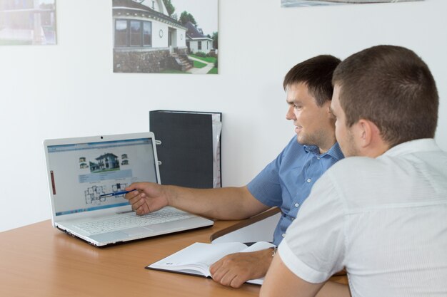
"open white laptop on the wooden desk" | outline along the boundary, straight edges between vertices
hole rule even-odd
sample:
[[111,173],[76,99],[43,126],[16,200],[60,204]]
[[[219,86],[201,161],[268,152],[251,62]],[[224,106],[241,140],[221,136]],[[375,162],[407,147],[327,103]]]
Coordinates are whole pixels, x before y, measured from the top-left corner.
[[45,140],[54,227],[94,246],[211,226],[164,207],[138,216],[124,198],[132,182],[160,182],[154,133]]

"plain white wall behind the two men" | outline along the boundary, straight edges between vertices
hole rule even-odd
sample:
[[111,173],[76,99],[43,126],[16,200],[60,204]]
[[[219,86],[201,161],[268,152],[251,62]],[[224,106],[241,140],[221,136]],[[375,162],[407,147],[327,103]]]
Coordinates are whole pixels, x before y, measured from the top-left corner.
[[44,139],[145,131],[154,109],[223,112],[223,183],[246,184],[293,136],[283,75],[321,53],[416,51],[438,83],[436,139],[447,150],[447,1],[281,9],[280,0],[222,0],[219,9],[219,75],[112,73],[110,0],[57,1],[57,46],[0,47],[0,231],[50,217]]

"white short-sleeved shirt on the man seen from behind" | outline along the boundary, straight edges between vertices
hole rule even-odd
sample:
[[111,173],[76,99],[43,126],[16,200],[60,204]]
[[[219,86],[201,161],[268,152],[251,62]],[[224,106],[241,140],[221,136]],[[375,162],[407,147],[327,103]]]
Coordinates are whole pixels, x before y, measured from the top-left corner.
[[346,267],[353,297],[447,296],[447,152],[423,139],[341,160],[278,253],[311,283]]

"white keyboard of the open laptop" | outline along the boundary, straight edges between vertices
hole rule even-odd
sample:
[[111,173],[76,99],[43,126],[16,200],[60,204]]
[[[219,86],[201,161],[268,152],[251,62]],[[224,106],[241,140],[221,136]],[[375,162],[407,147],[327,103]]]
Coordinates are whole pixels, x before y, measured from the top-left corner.
[[134,212],[129,212],[106,219],[99,219],[96,221],[75,224],[74,226],[78,229],[88,232],[89,234],[97,234],[139,226],[149,226],[154,224],[173,222],[179,219],[188,219],[191,217],[196,216],[194,214],[179,212],[176,209],[167,207],[164,209],[160,209],[157,212],[145,214],[143,216],[138,216]]

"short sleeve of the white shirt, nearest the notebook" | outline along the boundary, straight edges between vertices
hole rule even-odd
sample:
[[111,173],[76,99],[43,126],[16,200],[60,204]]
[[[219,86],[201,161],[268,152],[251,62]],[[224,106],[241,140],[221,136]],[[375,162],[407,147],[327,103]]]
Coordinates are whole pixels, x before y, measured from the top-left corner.
[[278,246],[288,269],[309,283],[323,283],[343,269],[345,208],[328,173],[314,184]]

